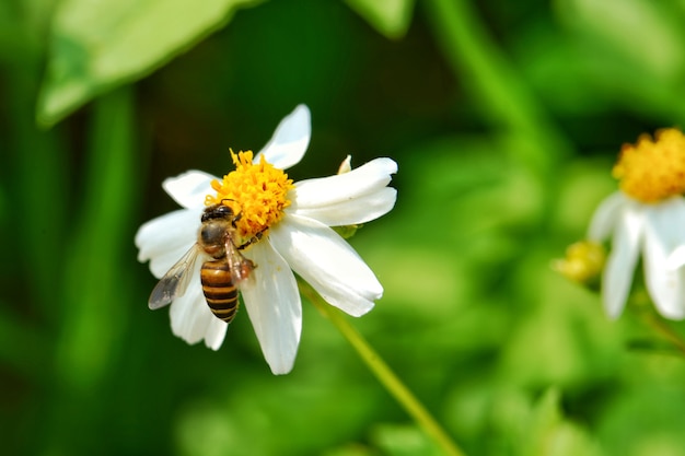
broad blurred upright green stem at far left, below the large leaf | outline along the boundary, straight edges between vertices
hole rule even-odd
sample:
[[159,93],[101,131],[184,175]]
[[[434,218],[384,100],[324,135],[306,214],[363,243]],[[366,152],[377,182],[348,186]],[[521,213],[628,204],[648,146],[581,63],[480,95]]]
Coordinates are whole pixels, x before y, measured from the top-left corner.
[[53,404],[42,417],[44,454],[92,454],[102,445],[92,417],[108,402],[91,399],[108,397],[130,312],[121,305],[130,302],[131,290],[121,255],[130,245],[138,182],[133,90],[101,96],[92,113],[82,212],[72,214],[69,255],[59,264],[63,316],[49,389]]

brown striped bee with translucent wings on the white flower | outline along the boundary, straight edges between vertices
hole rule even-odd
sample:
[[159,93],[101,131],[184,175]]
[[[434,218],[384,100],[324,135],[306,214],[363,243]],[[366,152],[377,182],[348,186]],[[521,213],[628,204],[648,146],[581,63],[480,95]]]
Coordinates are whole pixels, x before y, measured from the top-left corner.
[[240,218],[240,214],[234,214],[223,202],[205,209],[197,243],[154,287],[148,302],[151,309],[163,307],[174,299],[183,296],[193,276],[191,271],[195,270],[195,261],[204,253],[212,258],[205,261],[200,269],[205,300],[217,318],[225,323],[233,320],[237,312],[237,287],[247,280],[256,268],[240,250],[260,237],[259,233],[247,243],[236,246],[235,222]]

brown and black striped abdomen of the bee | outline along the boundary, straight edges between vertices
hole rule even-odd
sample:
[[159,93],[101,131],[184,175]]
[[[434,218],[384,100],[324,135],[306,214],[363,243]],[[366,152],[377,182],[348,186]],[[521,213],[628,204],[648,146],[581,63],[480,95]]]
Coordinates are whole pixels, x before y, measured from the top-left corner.
[[237,312],[237,288],[225,259],[206,261],[200,270],[202,293],[211,312],[225,323],[231,323]]

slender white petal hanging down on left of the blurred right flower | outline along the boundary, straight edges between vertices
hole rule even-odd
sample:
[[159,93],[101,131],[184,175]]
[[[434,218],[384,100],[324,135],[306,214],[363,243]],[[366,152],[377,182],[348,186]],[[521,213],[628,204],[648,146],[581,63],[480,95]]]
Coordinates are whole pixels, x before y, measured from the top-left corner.
[[606,260],[602,280],[602,299],[611,318],[617,318],[626,305],[638,259],[643,223],[640,208],[634,204],[626,206],[617,215],[612,252]]

